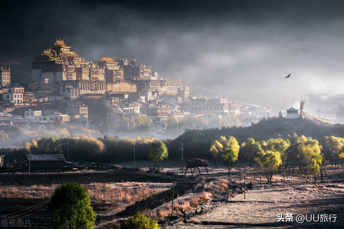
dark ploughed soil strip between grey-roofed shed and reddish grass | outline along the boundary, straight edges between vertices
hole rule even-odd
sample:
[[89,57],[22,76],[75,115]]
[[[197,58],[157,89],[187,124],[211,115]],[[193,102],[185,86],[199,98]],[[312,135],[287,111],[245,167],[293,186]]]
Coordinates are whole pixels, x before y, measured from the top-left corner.
[[0,185],[51,185],[75,181],[80,184],[118,183],[126,181],[168,183],[172,180],[144,173],[125,170],[99,171],[89,173],[56,173],[56,174],[0,174]]

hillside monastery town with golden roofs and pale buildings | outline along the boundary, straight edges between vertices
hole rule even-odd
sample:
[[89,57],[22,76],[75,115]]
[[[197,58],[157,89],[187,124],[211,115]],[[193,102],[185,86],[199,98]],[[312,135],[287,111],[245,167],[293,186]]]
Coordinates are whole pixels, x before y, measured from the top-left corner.
[[[135,59],[101,56],[98,61],[87,61],[71,48],[56,40],[33,57],[31,80],[22,83],[11,83],[10,66],[1,67],[1,126],[93,128],[141,117],[149,120],[151,135],[161,135],[175,128],[168,126],[171,121],[178,124],[185,117],[205,125],[227,119],[223,125],[247,127],[271,114],[267,107],[230,98],[193,96],[182,79],[162,78],[151,65],[138,64]],[[89,118],[87,100],[106,107],[93,111],[97,122]],[[218,123],[212,127],[222,125]]]

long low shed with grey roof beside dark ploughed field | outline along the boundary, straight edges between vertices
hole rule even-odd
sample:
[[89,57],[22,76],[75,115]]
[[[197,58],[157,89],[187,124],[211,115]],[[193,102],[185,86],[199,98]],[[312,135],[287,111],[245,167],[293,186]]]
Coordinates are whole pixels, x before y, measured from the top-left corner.
[[[29,154],[26,154],[29,161]],[[32,169],[60,169],[66,159],[63,154],[31,154],[30,168]]]

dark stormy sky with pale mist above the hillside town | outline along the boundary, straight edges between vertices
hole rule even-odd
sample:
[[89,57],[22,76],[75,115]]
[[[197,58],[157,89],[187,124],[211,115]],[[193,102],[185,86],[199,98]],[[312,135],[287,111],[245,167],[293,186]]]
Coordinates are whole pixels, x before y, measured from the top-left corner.
[[87,60],[136,58],[164,78],[220,85],[212,96],[274,110],[308,93],[344,92],[343,1],[1,4],[0,61],[30,64],[61,38]]

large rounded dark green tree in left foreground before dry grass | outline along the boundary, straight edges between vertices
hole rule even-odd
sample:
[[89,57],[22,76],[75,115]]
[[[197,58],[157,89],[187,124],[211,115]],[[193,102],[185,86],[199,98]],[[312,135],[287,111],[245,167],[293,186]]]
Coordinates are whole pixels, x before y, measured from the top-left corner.
[[90,229],[96,220],[87,189],[78,183],[57,187],[51,197],[50,210],[56,229]]

